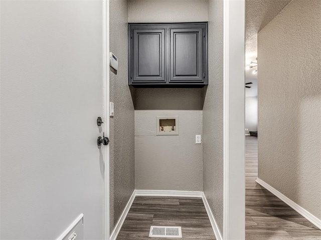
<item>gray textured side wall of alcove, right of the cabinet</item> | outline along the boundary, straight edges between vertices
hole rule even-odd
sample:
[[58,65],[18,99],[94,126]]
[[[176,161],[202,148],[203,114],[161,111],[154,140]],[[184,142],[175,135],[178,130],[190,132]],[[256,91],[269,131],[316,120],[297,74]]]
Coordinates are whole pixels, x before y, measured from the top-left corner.
[[203,107],[203,189],[223,231],[223,0],[208,1],[209,85]]

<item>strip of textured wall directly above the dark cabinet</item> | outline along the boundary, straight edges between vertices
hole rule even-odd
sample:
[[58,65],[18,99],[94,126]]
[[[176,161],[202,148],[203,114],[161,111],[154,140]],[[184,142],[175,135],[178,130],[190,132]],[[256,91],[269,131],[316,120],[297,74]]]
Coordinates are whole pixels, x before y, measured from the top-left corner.
[[129,0],[128,22],[207,21],[206,0]]

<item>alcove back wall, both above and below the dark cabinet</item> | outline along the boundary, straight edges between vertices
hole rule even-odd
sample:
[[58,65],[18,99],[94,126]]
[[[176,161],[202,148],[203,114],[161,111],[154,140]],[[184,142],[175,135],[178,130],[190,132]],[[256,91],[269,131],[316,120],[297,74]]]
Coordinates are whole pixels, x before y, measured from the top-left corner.
[[[129,22],[207,21],[204,0],[129,0]],[[203,90],[135,91],[136,189],[202,190]],[[156,136],[157,115],[179,115],[180,135]]]

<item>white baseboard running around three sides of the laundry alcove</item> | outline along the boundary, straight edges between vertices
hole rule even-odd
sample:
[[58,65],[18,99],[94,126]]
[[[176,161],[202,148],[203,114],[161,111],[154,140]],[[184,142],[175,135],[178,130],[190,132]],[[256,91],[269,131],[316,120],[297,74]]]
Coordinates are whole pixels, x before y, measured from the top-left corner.
[[203,191],[176,191],[176,190],[134,190],[131,197],[128,200],[127,205],[125,206],[124,211],[122,212],[114,230],[110,235],[110,240],[116,240],[117,235],[121,229],[122,224],[125,221],[125,218],[129,212],[131,204],[133,203],[136,196],[172,196],[172,197],[200,197],[203,200],[206,212],[209,216],[215,237],[217,240],[222,240],[222,234],[218,228],[218,225],[215,221],[214,215],[210,208],[209,203],[206,200]]

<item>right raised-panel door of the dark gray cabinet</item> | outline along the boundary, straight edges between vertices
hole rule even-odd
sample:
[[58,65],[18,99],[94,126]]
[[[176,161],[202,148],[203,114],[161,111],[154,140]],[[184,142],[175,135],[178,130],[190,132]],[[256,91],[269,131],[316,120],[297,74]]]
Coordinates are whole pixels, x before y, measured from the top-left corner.
[[171,29],[170,82],[204,82],[203,29]]

